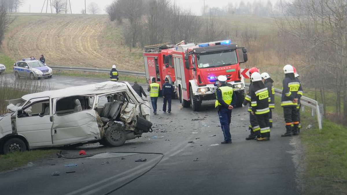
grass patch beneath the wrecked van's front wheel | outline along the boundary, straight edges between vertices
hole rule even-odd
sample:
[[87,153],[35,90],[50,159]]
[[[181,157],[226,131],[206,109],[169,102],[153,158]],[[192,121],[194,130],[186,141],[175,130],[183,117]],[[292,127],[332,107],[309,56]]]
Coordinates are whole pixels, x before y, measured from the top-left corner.
[[32,150],[0,155],[0,171],[11,170],[27,165],[28,162],[35,162],[43,158],[52,156],[58,150]]

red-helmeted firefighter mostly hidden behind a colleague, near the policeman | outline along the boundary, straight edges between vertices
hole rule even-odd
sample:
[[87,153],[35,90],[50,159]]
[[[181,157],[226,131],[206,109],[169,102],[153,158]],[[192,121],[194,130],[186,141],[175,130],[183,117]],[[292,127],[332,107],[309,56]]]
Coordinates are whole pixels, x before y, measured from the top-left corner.
[[[252,76],[254,72],[259,72],[259,69],[253,67],[249,69],[249,76]],[[247,92],[247,95],[245,97],[245,100],[243,102],[243,105],[248,106],[248,113],[249,113],[249,125],[248,129],[251,132],[251,134],[248,135],[246,140],[254,140],[255,138],[260,138],[260,126],[258,124],[257,118],[252,114],[252,107],[251,107],[251,95],[249,95],[249,91],[251,91],[253,88],[253,83],[251,80],[251,84],[249,85],[249,89]]]

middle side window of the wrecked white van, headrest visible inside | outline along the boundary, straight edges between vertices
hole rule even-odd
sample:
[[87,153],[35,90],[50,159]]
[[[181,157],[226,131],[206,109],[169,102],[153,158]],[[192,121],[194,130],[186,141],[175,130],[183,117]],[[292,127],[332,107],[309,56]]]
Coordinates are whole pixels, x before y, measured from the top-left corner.
[[65,115],[82,110],[92,109],[94,97],[90,96],[72,96],[59,99],[56,104],[57,115]]

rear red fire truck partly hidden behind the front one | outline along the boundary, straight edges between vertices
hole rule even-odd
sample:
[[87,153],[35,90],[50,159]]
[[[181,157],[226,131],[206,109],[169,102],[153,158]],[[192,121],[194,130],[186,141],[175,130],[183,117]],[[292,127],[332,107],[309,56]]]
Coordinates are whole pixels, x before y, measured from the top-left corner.
[[168,43],[145,46],[143,58],[146,80],[149,84],[152,82],[152,78],[155,78],[156,82],[160,84],[161,89],[165,83],[165,78],[168,78],[171,85],[175,86],[175,69],[172,59],[173,51],[175,51],[174,45],[168,45]]

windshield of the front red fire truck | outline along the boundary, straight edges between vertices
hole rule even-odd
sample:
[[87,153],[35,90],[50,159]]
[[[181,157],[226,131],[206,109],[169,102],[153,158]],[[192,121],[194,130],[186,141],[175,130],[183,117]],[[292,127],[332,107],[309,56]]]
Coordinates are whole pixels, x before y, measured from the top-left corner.
[[198,68],[223,67],[237,64],[236,50],[200,53],[196,56]]

